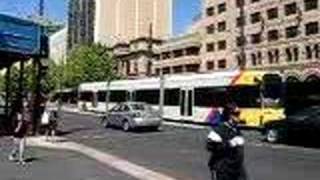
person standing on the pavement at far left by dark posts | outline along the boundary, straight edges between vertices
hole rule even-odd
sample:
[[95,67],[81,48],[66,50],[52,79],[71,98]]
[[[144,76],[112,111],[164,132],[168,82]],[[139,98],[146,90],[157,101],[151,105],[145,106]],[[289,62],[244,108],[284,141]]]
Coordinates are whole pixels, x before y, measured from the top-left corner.
[[[29,103],[26,98],[22,99],[22,103],[19,103],[18,111],[15,115],[16,125],[13,132],[13,149],[9,155],[10,161],[18,160],[19,164],[24,165],[24,151],[26,146],[26,135],[28,131],[28,125],[30,122],[30,110]],[[18,156],[18,159],[16,159]]]

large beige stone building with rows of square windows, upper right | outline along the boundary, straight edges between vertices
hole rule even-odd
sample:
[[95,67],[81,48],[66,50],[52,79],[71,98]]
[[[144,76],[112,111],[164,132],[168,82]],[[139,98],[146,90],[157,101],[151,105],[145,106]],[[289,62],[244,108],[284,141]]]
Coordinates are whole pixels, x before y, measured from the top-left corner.
[[320,78],[319,9],[319,0],[205,0],[198,24],[206,34],[202,58],[212,59],[217,69]]

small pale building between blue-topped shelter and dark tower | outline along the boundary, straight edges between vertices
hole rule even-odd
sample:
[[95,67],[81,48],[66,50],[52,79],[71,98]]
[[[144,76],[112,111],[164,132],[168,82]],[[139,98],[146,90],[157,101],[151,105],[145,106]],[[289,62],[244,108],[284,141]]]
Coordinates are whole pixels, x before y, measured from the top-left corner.
[[63,63],[67,57],[67,27],[49,37],[49,58],[56,64]]

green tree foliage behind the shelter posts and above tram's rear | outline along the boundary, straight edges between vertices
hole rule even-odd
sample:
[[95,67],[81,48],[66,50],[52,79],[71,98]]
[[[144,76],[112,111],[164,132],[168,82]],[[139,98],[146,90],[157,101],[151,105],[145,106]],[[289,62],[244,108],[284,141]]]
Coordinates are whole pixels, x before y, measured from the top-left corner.
[[[115,62],[107,48],[100,44],[83,45],[74,49],[67,63],[55,64],[49,60],[47,73],[41,77],[42,92],[49,93],[60,88],[75,88],[83,82],[112,81],[116,78]],[[35,69],[33,64],[24,68],[24,92],[35,91]],[[13,97],[19,92],[19,68],[11,67],[10,91]],[[5,75],[0,76],[1,91],[5,91]]]

